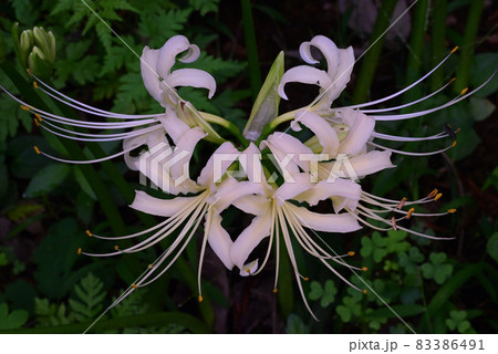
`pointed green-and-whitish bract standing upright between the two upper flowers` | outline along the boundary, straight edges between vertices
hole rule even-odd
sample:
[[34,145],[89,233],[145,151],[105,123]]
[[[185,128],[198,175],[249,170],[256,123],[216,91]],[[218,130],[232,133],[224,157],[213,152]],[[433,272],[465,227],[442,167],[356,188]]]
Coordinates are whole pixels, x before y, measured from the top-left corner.
[[250,140],[257,140],[264,126],[278,116],[280,104],[278,88],[283,71],[283,52],[280,52],[270,67],[258,97],[252,105],[249,121],[243,128],[243,136]]

